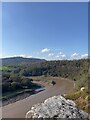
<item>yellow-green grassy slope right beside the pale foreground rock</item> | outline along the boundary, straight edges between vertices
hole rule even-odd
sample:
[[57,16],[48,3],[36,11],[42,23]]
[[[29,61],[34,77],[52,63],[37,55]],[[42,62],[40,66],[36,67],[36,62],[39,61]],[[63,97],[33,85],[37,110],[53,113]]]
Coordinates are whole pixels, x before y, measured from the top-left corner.
[[84,91],[76,91],[65,95],[66,99],[73,100],[79,109],[90,113],[90,91],[85,88]]

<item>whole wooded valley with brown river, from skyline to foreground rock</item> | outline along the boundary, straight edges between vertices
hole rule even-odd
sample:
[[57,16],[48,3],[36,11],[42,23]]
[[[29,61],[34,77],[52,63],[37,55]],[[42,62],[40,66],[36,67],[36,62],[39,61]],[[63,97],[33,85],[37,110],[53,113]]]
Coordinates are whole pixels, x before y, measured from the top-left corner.
[[[33,105],[56,95],[63,95],[80,109],[90,111],[88,59],[39,62],[34,59],[30,62],[30,59],[13,58],[13,61],[16,59],[18,64],[9,58],[12,64],[6,65],[7,58],[0,67],[3,118],[25,118]],[[85,88],[83,93],[80,91],[82,87]]]

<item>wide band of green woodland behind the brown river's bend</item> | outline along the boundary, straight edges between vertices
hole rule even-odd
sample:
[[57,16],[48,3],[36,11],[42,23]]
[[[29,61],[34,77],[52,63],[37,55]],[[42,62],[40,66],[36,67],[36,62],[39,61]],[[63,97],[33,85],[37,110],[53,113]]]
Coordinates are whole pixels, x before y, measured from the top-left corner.
[[[17,58],[21,61],[22,58]],[[28,61],[28,59],[23,59]],[[10,61],[10,59],[9,59]],[[9,62],[8,61],[8,62]],[[15,61],[15,59],[14,59]],[[14,62],[13,61],[13,62]],[[2,82],[5,89],[10,90],[12,82],[14,86],[18,83],[20,86],[33,86],[31,80],[26,77],[32,76],[58,76],[74,80],[76,89],[88,86],[90,84],[90,76],[88,75],[90,60],[54,60],[54,61],[40,61],[40,62],[25,62],[17,65],[7,65],[6,68],[10,70],[2,70]],[[5,84],[8,87],[5,87]],[[30,85],[29,85],[30,84]],[[6,85],[6,86],[7,86]],[[18,88],[19,89],[19,88]],[[4,90],[5,91],[5,90]]]

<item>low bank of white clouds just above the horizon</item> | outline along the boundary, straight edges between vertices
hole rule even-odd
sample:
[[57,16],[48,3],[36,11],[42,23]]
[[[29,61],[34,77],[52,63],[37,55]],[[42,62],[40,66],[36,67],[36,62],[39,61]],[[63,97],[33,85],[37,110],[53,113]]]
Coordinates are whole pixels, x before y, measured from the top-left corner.
[[[37,54],[38,53],[38,54]],[[41,59],[46,59],[46,60],[74,60],[74,59],[86,59],[88,58],[88,54],[80,54],[80,53],[72,53],[72,54],[67,54],[63,51],[56,51],[54,49],[49,49],[49,48],[44,48],[40,51],[33,52],[31,55],[25,55],[25,54],[20,54],[20,55],[13,55],[13,56],[5,56],[6,57],[23,57],[23,58],[41,58]]]

